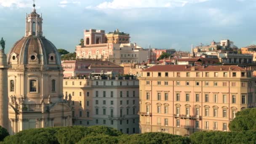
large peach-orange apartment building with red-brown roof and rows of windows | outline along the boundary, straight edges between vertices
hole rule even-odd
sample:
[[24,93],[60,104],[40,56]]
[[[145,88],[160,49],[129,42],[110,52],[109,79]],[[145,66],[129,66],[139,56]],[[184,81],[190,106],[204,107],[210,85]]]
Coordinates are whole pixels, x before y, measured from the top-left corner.
[[140,132],[229,131],[237,111],[256,106],[249,67],[157,65],[141,72]]

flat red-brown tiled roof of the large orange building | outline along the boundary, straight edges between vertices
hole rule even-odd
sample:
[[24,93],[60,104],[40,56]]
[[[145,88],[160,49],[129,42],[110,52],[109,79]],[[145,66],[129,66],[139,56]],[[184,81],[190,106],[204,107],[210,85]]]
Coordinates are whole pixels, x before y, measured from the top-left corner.
[[[195,70],[192,70],[195,67]],[[190,66],[190,65],[156,65],[142,72],[182,72],[182,71],[246,71],[238,66]]]

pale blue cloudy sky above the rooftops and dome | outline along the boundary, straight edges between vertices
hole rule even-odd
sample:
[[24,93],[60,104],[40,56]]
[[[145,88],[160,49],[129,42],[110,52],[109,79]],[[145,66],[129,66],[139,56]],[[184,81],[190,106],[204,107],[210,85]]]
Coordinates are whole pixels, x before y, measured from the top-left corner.
[[[32,0],[0,0],[0,37],[7,51],[24,36]],[[256,44],[256,0],[35,0],[43,35],[56,48],[75,51],[84,29],[119,29],[131,43],[190,51],[191,45],[229,39]]]

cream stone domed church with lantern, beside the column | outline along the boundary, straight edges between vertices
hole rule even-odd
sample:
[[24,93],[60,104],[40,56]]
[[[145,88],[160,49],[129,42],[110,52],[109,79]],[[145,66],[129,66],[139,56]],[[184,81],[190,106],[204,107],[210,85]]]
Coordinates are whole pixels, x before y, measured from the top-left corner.
[[42,17],[26,17],[25,36],[8,53],[9,133],[72,125],[70,101],[63,99],[63,69],[56,47],[43,37]]

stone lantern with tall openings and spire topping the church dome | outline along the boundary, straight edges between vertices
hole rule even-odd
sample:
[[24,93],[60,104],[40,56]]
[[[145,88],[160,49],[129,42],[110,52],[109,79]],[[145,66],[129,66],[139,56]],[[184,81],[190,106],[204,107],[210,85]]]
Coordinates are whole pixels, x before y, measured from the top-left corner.
[[33,11],[26,16],[26,32],[25,37],[29,36],[43,36],[43,18],[37,14],[35,9],[35,0],[33,4]]

